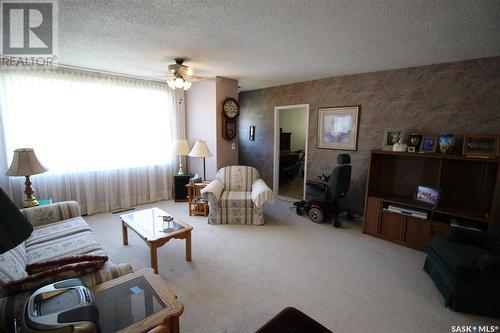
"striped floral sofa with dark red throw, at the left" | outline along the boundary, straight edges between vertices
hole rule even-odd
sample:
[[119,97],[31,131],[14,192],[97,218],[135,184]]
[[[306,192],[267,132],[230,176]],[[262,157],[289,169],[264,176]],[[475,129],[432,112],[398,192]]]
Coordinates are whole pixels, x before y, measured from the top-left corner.
[[[24,303],[31,292],[15,293],[4,287],[11,281],[29,277],[27,265],[68,256],[107,255],[80,216],[77,202],[54,203],[22,209],[21,212],[33,225],[33,233],[19,246],[0,255],[0,332],[12,331],[13,319],[22,317]],[[108,260],[101,268],[79,278],[91,287],[131,272],[133,269],[129,264],[115,264]]]

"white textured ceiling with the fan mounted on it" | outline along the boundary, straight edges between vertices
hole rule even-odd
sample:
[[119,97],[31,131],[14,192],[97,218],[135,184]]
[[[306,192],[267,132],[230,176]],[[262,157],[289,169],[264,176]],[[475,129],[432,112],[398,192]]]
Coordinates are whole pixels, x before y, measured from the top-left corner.
[[59,0],[59,62],[242,90],[500,55],[498,0]]

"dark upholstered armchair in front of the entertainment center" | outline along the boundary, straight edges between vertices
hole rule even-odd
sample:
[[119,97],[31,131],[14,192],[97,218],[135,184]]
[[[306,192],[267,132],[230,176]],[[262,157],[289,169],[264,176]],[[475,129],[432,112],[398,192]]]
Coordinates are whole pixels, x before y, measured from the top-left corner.
[[434,236],[424,270],[444,297],[460,312],[500,318],[500,237],[451,227]]

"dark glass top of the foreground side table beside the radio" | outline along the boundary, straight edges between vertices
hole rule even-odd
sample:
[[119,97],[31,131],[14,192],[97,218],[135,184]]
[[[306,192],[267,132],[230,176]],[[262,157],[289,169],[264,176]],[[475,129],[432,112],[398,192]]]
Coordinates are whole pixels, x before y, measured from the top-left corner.
[[143,276],[94,294],[94,298],[101,333],[117,332],[165,308]]

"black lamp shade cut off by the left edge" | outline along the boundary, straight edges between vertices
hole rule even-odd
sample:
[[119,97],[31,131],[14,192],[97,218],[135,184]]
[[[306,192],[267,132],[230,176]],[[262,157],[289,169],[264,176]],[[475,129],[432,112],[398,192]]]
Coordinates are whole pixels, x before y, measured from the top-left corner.
[[0,188],[0,254],[24,242],[32,232],[31,224]]

